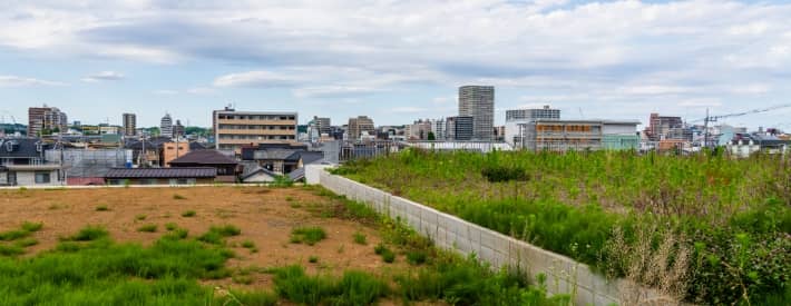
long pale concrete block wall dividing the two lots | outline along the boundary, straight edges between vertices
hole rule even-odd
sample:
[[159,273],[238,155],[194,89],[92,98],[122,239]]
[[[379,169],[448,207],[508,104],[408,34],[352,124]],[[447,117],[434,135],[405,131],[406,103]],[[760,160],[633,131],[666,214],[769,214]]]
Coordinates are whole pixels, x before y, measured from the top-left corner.
[[[568,257],[364,184],[331,175],[323,169],[319,172],[319,182],[338,195],[365,203],[379,214],[401,219],[440,248],[463,256],[475,254],[494,269],[518,268],[531,277],[544,274],[547,276],[547,292],[550,295],[573,294],[576,305],[621,304],[619,288],[626,287],[625,280],[605,279],[594,274],[588,266]],[[647,288],[642,288],[639,295],[645,298],[658,297],[656,292]]]

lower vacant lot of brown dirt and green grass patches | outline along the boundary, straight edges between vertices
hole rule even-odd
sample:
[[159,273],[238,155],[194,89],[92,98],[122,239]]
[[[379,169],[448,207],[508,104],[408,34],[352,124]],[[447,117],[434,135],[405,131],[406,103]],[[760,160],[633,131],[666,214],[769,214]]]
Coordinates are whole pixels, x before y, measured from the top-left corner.
[[321,188],[0,190],[0,305],[568,305]]

